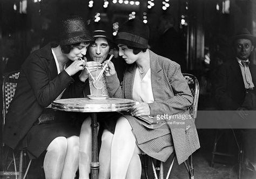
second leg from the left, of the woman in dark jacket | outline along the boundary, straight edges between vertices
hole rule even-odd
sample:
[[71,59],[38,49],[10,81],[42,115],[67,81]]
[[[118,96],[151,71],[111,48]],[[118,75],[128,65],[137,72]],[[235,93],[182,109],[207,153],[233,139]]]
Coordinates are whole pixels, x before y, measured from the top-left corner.
[[73,135],[66,139],[68,148],[62,170],[62,179],[75,178],[79,159],[79,137]]

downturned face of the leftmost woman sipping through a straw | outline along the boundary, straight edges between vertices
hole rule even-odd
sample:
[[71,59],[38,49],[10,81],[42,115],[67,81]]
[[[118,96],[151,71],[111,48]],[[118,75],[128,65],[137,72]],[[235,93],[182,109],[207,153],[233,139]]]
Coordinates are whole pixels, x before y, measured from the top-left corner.
[[81,42],[78,46],[74,46],[66,56],[72,60],[80,60],[83,59],[83,56],[86,54],[87,47],[89,46],[90,42]]

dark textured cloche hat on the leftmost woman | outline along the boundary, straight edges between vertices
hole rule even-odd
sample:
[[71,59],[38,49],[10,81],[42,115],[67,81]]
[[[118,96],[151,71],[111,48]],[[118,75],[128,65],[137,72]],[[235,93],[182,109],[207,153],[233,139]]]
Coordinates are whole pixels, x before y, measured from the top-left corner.
[[83,41],[93,41],[91,32],[87,29],[82,17],[70,16],[60,23],[59,45],[77,44]]

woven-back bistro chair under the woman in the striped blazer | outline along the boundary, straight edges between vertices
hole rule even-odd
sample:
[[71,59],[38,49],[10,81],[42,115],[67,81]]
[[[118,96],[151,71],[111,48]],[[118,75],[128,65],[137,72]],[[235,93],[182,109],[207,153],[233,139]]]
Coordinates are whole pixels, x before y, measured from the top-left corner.
[[[185,80],[187,81],[188,87],[190,87],[191,94],[193,96],[193,103],[191,106],[189,106],[190,114],[195,120],[197,118],[197,106],[198,106],[198,98],[199,98],[199,83],[197,78],[194,75],[183,73],[183,76],[185,77]],[[175,159],[175,153],[173,154],[171,164],[169,167],[169,170],[166,175],[166,179],[169,178],[174,159]],[[149,179],[149,175],[147,173],[147,162],[149,160],[149,156],[146,154],[142,154],[142,165],[144,168],[145,172],[145,177],[146,179]],[[154,166],[154,160],[151,158],[151,164],[152,164],[152,169],[153,169],[153,174],[155,179],[164,179],[164,167],[163,167],[163,162],[156,160],[156,167]],[[194,167],[193,167],[193,157],[190,155],[188,159],[184,162],[185,167],[187,169],[188,175],[190,179],[194,178]]]

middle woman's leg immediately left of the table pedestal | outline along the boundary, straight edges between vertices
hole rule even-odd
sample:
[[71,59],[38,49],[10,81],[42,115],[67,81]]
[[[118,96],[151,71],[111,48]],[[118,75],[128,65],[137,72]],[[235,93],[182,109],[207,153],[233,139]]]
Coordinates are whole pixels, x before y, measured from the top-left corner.
[[79,138],[79,179],[89,179],[92,149],[92,130],[90,117],[87,117],[84,120]]

